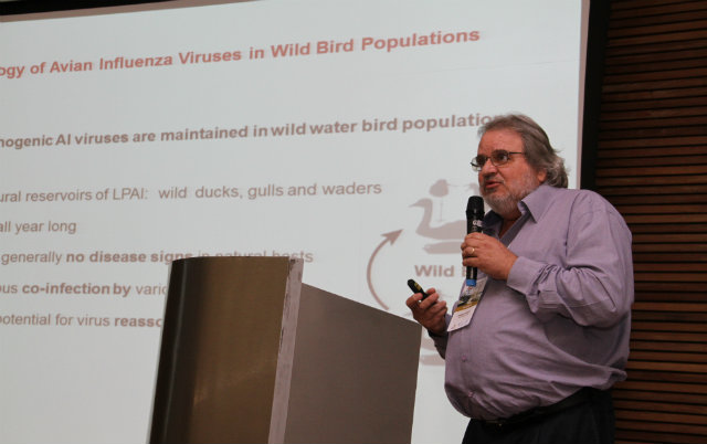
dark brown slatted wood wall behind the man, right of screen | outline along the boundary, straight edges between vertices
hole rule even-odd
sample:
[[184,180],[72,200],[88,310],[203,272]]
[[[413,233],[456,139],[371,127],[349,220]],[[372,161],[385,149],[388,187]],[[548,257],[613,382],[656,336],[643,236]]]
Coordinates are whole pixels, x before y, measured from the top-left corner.
[[620,443],[707,443],[707,1],[614,0],[597,191],[633,233]]

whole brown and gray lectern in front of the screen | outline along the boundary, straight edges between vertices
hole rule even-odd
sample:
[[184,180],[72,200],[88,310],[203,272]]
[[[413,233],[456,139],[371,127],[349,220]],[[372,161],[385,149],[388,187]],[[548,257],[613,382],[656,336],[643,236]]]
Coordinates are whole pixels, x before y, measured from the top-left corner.
[[151,443],[410,442],[421,327],[302,271],[288,257],[172,263]]

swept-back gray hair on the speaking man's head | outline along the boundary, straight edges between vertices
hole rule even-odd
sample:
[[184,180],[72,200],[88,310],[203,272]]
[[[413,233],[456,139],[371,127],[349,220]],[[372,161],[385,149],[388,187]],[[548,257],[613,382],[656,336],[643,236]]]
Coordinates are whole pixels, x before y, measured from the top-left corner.
[[478,136],[486,131],[497,129],[510,129],[523,139],[528,163],[536,170],[547,172],[545,183],[567,188],[568,179],[564,170],[564,160],[557,155],[557,150],[550,145],[550,138],[545,130],[530,117],[523,114],[506,114],[496,116],[481,128]]

